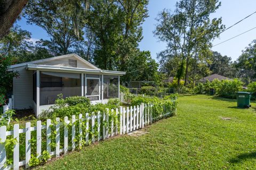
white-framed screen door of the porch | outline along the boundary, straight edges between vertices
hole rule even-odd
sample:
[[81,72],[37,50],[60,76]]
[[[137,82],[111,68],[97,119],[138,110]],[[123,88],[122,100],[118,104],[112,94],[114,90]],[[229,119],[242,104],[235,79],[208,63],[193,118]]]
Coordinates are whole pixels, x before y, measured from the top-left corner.
[[100,100],[100,79],[86,78],[86,97],[91,101]]

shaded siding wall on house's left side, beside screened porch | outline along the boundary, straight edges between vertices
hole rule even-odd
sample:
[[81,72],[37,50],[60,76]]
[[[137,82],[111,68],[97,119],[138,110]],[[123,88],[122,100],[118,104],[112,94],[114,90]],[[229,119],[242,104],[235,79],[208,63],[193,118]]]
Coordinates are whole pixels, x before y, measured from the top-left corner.
[[33,108],[33,71],[26,66],[17,67],[18,78],[13,78],[14,109]]

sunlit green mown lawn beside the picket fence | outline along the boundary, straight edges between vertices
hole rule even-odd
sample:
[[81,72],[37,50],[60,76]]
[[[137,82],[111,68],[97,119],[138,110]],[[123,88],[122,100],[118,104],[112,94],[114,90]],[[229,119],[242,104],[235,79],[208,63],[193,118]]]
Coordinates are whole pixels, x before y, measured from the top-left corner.
[[255,169],[255,120],[256,108],[238,109],[236,100],[181,96],[178,116],[147,134],[99,142],[39,169]]

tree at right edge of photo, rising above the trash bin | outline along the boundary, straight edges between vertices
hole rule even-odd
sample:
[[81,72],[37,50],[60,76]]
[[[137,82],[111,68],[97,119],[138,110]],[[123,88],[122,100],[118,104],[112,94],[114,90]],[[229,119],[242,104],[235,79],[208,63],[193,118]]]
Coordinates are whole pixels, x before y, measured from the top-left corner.
[[256,40],[253,40],[242,55],[238,57],[235,62],[238,71],[238,77],[241,78],[246,84],[256,79]]

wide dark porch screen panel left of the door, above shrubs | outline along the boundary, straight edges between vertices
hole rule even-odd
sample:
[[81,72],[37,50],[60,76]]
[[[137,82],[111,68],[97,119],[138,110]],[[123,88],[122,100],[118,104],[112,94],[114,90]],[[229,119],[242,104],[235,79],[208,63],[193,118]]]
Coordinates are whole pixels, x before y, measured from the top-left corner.
[[41,106],[54,104],[60,94],[63,98],[82,95],[81,74],[42,72],[40,77]]

